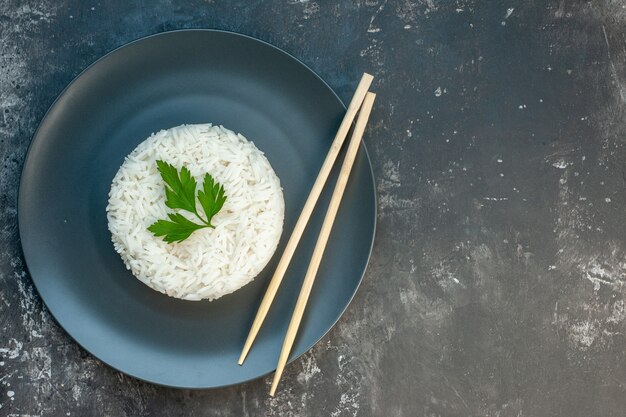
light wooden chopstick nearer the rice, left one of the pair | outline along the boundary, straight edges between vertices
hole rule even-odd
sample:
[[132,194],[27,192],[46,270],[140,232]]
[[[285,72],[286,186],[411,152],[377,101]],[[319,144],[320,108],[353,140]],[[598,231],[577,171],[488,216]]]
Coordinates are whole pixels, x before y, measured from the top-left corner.
[[350,126],[352,125],[352,121],[354,120],[354,116],[356,116],[357,111],[361,107],[361,103],[363,102],[363,98],[369,90],[370,85],[372,84],[372,77],[368,73],[364,73],[361,77],[361,81],[359,81],[359,85],[357,86],[356,91],[354,92],[354,96],[352,97],[352,101],[350,101],[350,105],[348,106],[348,110],[346,111],[345,116],[337,130],[337,134],[335,135],[335,139],[328,151],[328,155],[326,155],[326,159],[322,164],[322,168],[320,169],[319,174],[317,175],[317,179],[313,184],[313,188],[311,188],[311,192],[307,197],[306,202],[304,203],[304,207],[302,208],[302,212],[300,213],[300,217],[298,217],[298,221],[293,228],[293,232],[291,232],[291,237],[287,242],[287,246],[285,246],[285,251],[283,252],[280,261],[278,261],[278,266],[276,266],[276,271],[274,271],[274,275],[270,281],[267,290],[265,291],[265,295],[263,296],[263,300],[261,301],[261,305],[259,306],[259,310],[256,313],[256,317],[254,318],[254,322],[252,323],[252,327],[250,328],[250,333],[248,334],[248,338],[246,339],[246,343],[243,346],[243,350],[241,352],[241,356],[239,357],[239,365],[243,364],[243,361],[246,359],[250,348],[252,347],[252,343],[256,338],[256,335],[259,333],[261,329],[261,325],[263,324],[263,320],[265,320],[265,316],[267,316],[267,312],[270,309],[272,301],[274,301],[274,296],[278,292],[278,287],[285,276],[285,271],[287,271],[287,267],[289,266],[289,262],[291,262],[291,258],[300,242],[300,238],[302,237],[302,233],[311,218],[311,213],[315,208],[315,204],[319,199],[319,196],[324,188],[324,184],[328,179],[328,175],[335,164],[335,160],[337,159],[337,155],[339,155],[339,151],[348,135],[348,131],[350,130]]

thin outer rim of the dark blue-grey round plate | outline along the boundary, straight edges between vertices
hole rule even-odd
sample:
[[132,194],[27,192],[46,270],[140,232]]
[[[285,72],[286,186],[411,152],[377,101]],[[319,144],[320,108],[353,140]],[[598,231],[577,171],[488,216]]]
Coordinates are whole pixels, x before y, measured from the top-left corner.
[[[224,30],[224,29],[213,29],[213,28],[187,28],[187,29],[176,29],[176,30],[167,30],[167,31],[163,31],[163,32],[157,32],[157,33],[152,33],[150,35],[146,35],[146,36],[142,36],[136,39],[133,39],[131,41],[128,41],[126,43],[123,43],[120,46],[117,46],[113,49],[111,49],[109,52],[105,53],[104,55],[100,56],[98,59],[96,59],[95,61],[93,61],[91,64],[89,64],[87,67],[85,67],[82,71],[80,71],[74,78],[72,78],[72,80],[61,90],[61,92],[56,96],[56,98],[54,99],[54,101],[50,104],[50,106],[48,107],[48,109],[46,110],[46,112],[44,113],[44,115],[41,117],[37,128],[35,129],[35,131],[33,132],[32,137],[30,138],[30,142],[28,144],[28,147],[26,148],[26,152],[24,154],[24,162],[22,164],[22,169],[20,172],[20,176],[19,176],[19,183],[18,183],[18,187],[17,187],[17,226],[18,226],[18,236],[19,236],[19,241],[20,241],[20,248],[22,249],[22,257],[24,259],[24,267],[26,269],[26,271],[28,272],[28,276],[30,279],[30,282],[33,284],[33,286],[35,287],[35,289],[37,290],[37,295],[39,297],[39,299],[41,300],[43,306],[45,306],[45,309],[48,311],[48,313],[50,314],[50,316],[52,316],[52,318],[54,319],[54,321],[57,323],[57,325],[63,330],[63,332],[69,336],[69,338],[76,343],[77,345],[79,345],[83,350],[85,350],[87,353],[89,353],[91,356],[93,356],[94,358],[96,358],[98,361],[102,362],[103,364],[105,364],[106,366],[114,369],[117,372],[120,372],[124,375],[128,375],[132,378],[136,378],[140,381],[143,382],[147,382],[150,384],[154,384],[157,386],[162,386],[162,387],[167,387],[167,388],[173,388],[173,389],[187,389],[187,390],[209,390],[209,389],[220,389],[220,388],[228,388],[228,387],[233,387],[233,386],[237,386],[237,385],[241,385],[241,384],[245,384],[245,383],[249,383],[252,381],[256,381],[259,380],[261,378],[265,378],[266,376],[270,375],[272,372],[275,371],[275,369],[270,370],[269,372],[260,374],[258,376],[255,377],[251,377],[251,378],[247,378],[244,380],[241,380],[239,382],[233,382],[233,383],[229,383],[229,384],[223,384],[223,385],[215,385],[215,386],[208,386],[208,387],[200,387],[200,386],[194,386],[194,387],[190,387],[190,386],[182,386],[182,385],[172,385],[172,384],[166,384],[163,382],[158,382],[158,381],[153,381],[138,375],[135,375],[133,373],[130,373],[128,371],[124,371],[122,369],[119,369],[117,366],[109,363],[108,361],[105,361],[103,359],[101,359],[99,356],[97,356],[96,354],[94,354],[90,349],[87,349],[85,346],[83,346],[82,343],[80,343],[78,340],[76,340],[74,338],[74,336],[72,336],[72,334],[65,329],[65,327],[61,324],[61,322],[57,319],[56,315],[54,314],[54,312],[52,312],[52,310],[48,307],[48,304],[46,302],[46,300],[44,299],[44,297],[41,295],[41,292],[39,290],[39,287],[37,286],[37,283],[35,282],[35,280],[33,279],[33,275],[30,271],[30,267],[28,264],[28,259],[26,256],[26,251],[24,250],[24,244],[22,241],[22,229],[25,228],[25,225],[22,224],[21,221],[21,216],[20,213],[22,212],[22,207],[24,205],[24,203],[22,202],[23,200],[23,196],[22,196],[22,184],[24,182],[24,176],[25,176],[25,171],[27,166],[29,165],[29,160],[32,158],[32,148],[33,145],[36,142],[41,142],[45,139],[42,139],[43,135],[40,135],[40,130],[42,128],[42,125],[44,124],[44,122],[46,121],[46,119],[48,118],[50,112],[55,108],[55,106],[57,105],[57,103],[61,100],[61,98],[63,96],[65,96],[65,94],[68,92],[68,90],[85,74],[87,73],[91,68],[95,67],[98,63],[100,63],[100,61],[103,61],[104,59],[106,59],[107,57],[109,57],[110,55],[113,55],[114,53],[120,51],[123,48],[129,47],[131,45],[134,45],[136,43],[148,40],[148,39],[152,39],[152,38],[156,38],[156,37],[160,37],[160,36],[168,36],[171,34],[176,34],[176,33],[190,33],[190,32],[205,32],[205,33],[220,33],[220,34],[226,34],[229,36],[235,36],[235,37],[241,37],[241,38],[245,38],[247,40],[253,41],[253,42],[259,42],[261,44],[263,44],[263,46],[265,47],[269,47],[273,50],[275,50],[276,52],[286,55],[288,58],[296,61],[297,63],[299,63],[300,65],[302,65],[306,70],[308,70],[313,76],[315,76],[325,87],[328,91],[330,91],[335,98],[337,99],[337,101],[340,103],[341,107],[344,109],[344,111],[347,110],[347,107],[345,105],[345,103],[343,102],[343,100],[337,95],[337,93],[335,92],[335,90],[333,90],[330,85],[317,73],[315,72],[311,67],[309,67],[306,63],[304,63],[302,60],[300,60],[299,58],[295,57],[294,55],[292,55],[291,53],[285,51],[282,48],[279,48],[278,46],[275,46],[263,39],[259,39],[257,37],[251,36],[251,35],[246,35],[244,33],[239,33],[239,32],[234,32],[234,31],[230,31],[230,30]],[[354,122],[353,122],[354,124]],[[367,161],[367,168],[368,168],[368,172],[369,175],[372,179],[372,191],[373,191],[373,199],[374,199],[374,222],[373,222],[373,231],[372,231],[372,238],[371,238],[371,242],[369,245],[369,249],[368,249],[368,253],[367,253],[367,257],[366,257],[366,262],[365,262],[365,268],[363,269],[363,272],[361,274],[361,277],[358,279],[358,283],[354,289],[354,291],[352,292],[352,294],[350,295],[350,298],[347,300],[345,307],[341,310],[341,312],[339,313],[339,315],[337,316],[337,319],[333,321],[333,323],[330,325],[330,327],[323,332],[323,334],[321,334],[319,336],[319,338],[317,338],[309,347],[307,347],[306,349],[304,349],[301,353],[299,353],[298,355],[295,355],[293,357],[291,357],[288,361],[287,364],[291,364],[293,362],[295,362],[296,360],[298,360],[301,356],[303,356],[305,353],[308,353],[311,349],[313,349],[328,333],[330,333],[330,331],[335,328],[335,326],[337,325],[337,323],[339,322],[339,320],[343,317],[343,315],[346,313],[348,307],[352,304],[352,301],[354,300],[354,297],[356,296],[357,291],[359,290],[359,288],[361,287],[361,284],[363,283],[363,279],[365,277],[365,274],[367,273],[370,261],[371,261],[371,257],[372,257],[372,252],[374,249],[374,242],[376,240],[376,231],[378,228],[378,192],[376,189],[376,177],[374,176],[374,169],[372,167],[372,161],[370,159],[369,156],[369,152],[367,150],[367,146],[365,144],[365,141],[361,140],[361,150],[364,153],[365,156],[365,160]],[[335,164],[337,164],[338,162],[335,161]],[[242,348],[243,348],[243,344],[242,344]],[[254,348],[254,345],[253,345]],[[278,354],[279,352],[277,352]],[[243,365],[242,365],[243,366]]]

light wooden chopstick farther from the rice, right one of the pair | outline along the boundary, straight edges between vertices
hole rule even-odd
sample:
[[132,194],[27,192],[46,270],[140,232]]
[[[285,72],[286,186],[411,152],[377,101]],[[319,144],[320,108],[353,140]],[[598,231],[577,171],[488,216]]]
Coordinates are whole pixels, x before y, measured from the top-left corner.
[[287,329],[287,334],[285,336],[285,341],[283,342],[283,348],[280,352],[278,365],[276,366],[276,373],[274,374],[274,381],[272,382],[272,388],[270,390],[270,395],[272,397],[276,393],[276,387],[278,386],[280,377],[285,369],[285,365],[287,364],[287,359],[289,359],[289,353],[291,352],[296,335],[298,334],[298,327],[302,321],[304,309],[306,308],[306,303],[309,299],[309,295],[311,294],[311,288],[313,287],[313,282],[315,281],[315,276],[317,275],[317,270],[319,269],[324,249],[326,249],[326,243],[328,242],[330,231],[333,227],[333,223],[335,222],[337,210],[339,209],[343,192],[346,189],[350,171],[352,170],[352,165],[354,165],[354,159],[357,151],[359,150],[361,137],[363,136],[363,131],[365,130],[365,125],[367,124],[375,98],[376,94],[374,93],[368,92],[365,95],[365,99],[363,100],[363,105],[359,113],[359,118],[354,126],[354,133],[352,133],[346,157],[343,161],[343,165],[341,166],[339,178],[337,179],[335,190],[333,191],[330,204],[328,205],[326,217],[324,217],[324,223],[322,224],[319,237],[317,238],[317,243],[315,244],[315,249],[313,250],[311,263],[306,271],[304,282],[302,283],[302,289],[300,290],[300,295],[298,296],[298,301],[296,303],[296,308],[294,309],[293,316],[291,317],[291,322],[289,323],[289,328]]

